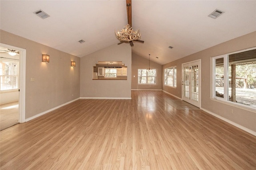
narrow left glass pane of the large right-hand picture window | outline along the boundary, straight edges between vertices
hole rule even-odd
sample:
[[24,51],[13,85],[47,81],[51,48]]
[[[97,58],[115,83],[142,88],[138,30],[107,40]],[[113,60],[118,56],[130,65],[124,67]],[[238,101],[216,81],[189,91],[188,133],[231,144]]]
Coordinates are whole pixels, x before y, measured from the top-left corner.
[[224,98],[224,58],[215,59],[215,96]]

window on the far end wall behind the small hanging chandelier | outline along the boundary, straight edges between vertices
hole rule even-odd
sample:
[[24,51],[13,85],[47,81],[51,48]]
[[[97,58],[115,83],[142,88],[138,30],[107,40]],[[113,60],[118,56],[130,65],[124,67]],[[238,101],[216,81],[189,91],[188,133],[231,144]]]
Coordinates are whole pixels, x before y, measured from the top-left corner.
[[138,69],[138,84],[156,84],[156,69]]

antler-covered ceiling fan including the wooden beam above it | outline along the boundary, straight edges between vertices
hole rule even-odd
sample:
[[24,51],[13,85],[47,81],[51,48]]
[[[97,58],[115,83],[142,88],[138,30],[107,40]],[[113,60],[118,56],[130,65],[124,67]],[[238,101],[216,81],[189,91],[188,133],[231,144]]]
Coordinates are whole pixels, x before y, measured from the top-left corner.
[[133,46],[132,41],[137,41],[140,43],[144,43],[144,41],[140,40],[140,30],[134,31],[132,29],[132,0],[126,0],[126,10],[127,10],[127,20],[128,24],[116,33],[116,38],[120,41],[119,44],[122,43],[130,43],[131,47]]

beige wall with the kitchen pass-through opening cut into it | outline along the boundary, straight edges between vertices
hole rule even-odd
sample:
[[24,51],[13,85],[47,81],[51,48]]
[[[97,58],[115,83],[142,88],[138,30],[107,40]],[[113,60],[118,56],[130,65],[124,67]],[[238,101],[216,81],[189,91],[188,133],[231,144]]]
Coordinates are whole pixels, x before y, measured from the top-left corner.
[[[92,80],[98,61],[122,61],[127,66],[127,80]],[[131,98],[132,49],[130,45],[111,45],[81,58],[81,98]]]

